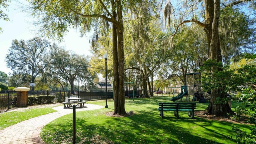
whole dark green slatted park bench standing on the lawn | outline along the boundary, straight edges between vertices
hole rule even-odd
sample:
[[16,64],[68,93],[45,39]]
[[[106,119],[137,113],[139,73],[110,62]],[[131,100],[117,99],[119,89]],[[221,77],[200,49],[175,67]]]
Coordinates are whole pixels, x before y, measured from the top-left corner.
[[164,111],[174,111],[174,116],[179,118],[179,111],[187,111],[188,116],[194,119],[194,109],[196,109],[196,103],[187,103],[187,102],[159,102],[158,110],[160,116],[164,118]]

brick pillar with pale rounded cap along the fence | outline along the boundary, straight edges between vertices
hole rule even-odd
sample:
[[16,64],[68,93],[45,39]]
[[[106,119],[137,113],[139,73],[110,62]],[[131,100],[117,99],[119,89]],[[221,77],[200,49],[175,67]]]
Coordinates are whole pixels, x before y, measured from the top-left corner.
[[26,87],[14,88],[15,91],[20,91],[20,95],[17,95],[17,106],[26,106],[28,104],[28,90]]

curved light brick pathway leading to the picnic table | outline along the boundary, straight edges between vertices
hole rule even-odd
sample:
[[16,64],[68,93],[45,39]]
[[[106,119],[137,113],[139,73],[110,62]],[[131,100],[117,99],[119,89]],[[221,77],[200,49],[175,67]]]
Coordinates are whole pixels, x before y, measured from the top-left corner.
[[[85,108],[76,108],[76,112],[103,108],[103,106],[94,104],[84,104],[84,106]],[[53,109],[58,111],[31,118],[0,130],[0,144],[45,144],[40,137],[42,127],[56,118],[73,112],[72,109],[64,109],[63,106]]]

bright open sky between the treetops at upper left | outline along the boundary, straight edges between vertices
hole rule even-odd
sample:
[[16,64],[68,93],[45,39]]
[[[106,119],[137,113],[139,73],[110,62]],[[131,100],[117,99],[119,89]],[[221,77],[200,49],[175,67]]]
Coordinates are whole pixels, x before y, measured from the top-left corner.
[[[26,0],[12,0],[8,11],[8,17],[10,21],[4,21],[0,19],[0,27],[4,32],[0,34],[0,71],[8,74],[12,72],[6,67],[5,56],[8,53],[8,49],[12,44],[12,40],[29,40],[36,36],[36,28],[32,25],[32,17],[20,10],[21,4],[26,4]],[[52,41],[52,40],[50,40]],[[66,50],[72,50],[78,54],[84,54],[85,56],[91,55],[89,40],[86,37],[81,38],[80,33],[74,29],[70,29],[70,32],[63,38],[63,42],[58,43],[59,46],[63,46]]]

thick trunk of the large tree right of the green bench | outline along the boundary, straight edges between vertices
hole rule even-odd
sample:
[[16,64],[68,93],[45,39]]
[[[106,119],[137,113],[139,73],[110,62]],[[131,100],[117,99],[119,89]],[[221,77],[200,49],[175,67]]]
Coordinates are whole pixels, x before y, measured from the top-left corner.
[[[213,8],[211,4],[214,3],[214,12],[212,12]],[[209,58],[212,60],[216,60],[217,62],[222,62],[222,55],[220,50],[220,39],[219,39],[219,19],[220,19],[220,0],[205,0],[206,7],[206,22],[211,24],[209,28],[206,28],[206,35],[208,38],[208,42],[210,42],[210,52]],[[211,34],[211,35],[210,35]],[[222,70],[222,69],[218,69]],[[212,68],[212,72],[214,69]],[[217,88],[211,90],[211,100],[208,108],[204,110],[205,114],[213,115],[213,116],[227,116],[228,113],[234,114],[231,110],[228,103],[220,104],[216,103],[217,98],[226,97],[223,88]]]

